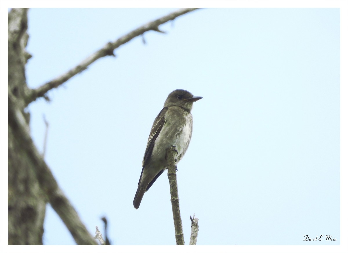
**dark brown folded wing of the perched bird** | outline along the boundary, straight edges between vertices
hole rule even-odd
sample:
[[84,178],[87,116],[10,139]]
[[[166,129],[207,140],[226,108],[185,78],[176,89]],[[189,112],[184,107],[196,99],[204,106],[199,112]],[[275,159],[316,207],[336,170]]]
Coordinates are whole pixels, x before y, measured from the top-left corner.
[[153,146],[155,145],[155,141],[157,139],[157,136],[159,135],[159,133],[161,132],[162,127],[164,126],[164,123],[165,123],[165,117],[164,116],[165,116],[167,110],[168,110],[168,107],[164,107],[158,113],[155,121],[153,121],[151,132],[150,132],[150,135],[149,135],[148,144],[147,144],[146,149],[145,149],[145,154],[144,154],[144,159],[143,159],[143,169],[142,169],[141,174],[140,174],[140,179],[139,179],[138,185],[140,184],[140,180],[141,180],[141,177],[143,175],[143,171],[144,171],[145,165],[147,164],[149,158],[151,157]]

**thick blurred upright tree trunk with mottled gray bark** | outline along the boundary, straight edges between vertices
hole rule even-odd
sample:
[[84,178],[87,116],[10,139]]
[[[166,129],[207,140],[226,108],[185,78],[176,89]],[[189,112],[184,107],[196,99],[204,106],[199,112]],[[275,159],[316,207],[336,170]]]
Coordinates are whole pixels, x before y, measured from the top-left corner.
[[[29,128],[29,113],[24,112],[27,93],[25,64],[30,54],[27,9],[12,9],[8,14],[8,92]],[[10,117],[10,116],[9,116]],[[8,244],[41,245],[44,233],[46,198],[32,173],[27,153],[18,139],[18,128],[8,121]]]

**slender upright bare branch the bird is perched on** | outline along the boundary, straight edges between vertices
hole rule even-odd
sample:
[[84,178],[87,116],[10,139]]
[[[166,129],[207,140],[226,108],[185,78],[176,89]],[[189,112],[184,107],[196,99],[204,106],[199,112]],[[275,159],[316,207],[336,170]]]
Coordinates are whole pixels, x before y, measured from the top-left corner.
[[179,208],[179,194],[177,192],[176,165],[175,165],[176,160],[174,158],[176,155],[177,155],[177,151],[175,146],[167,150],[168,180],[169,180],[169,186],[171,188],[171,201],[172,201],[176,245],[185,245],[184,233],[182,231],[180,208]]

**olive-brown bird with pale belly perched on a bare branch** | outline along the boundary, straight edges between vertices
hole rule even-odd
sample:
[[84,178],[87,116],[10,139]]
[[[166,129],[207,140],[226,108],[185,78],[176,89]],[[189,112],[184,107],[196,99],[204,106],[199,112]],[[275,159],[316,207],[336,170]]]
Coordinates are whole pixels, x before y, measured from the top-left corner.
[[184,156],[192,135],[192,105],[201,98],[183,89],[174,90],[168,95],[163,109],[153,121],[133,200],[135,209],[139,208],[144,193],[167,168],[167,149],[176,147],[175,164]]

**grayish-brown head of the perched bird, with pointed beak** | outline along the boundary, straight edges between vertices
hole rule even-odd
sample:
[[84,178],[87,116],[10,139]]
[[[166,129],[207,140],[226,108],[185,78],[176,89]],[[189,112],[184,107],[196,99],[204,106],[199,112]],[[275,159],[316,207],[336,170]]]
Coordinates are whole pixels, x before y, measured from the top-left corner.
[[184,89],[176,89],[169,93],[164,106],[180,106],[189,112],[192,109],[193,102],[203,97],[193,96],[192,93]]

